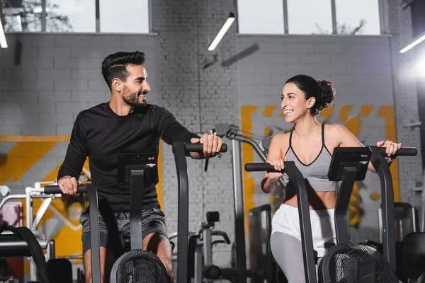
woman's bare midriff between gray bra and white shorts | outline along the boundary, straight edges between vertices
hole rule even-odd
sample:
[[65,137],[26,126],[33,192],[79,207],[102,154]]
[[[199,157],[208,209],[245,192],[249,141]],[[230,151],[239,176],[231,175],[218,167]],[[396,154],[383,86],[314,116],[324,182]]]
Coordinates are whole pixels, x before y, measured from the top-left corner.
[[[322,210],[335,208],[336,204],[336,191],[327,192],[308,192],[308,200],[310,209]],[[290,197],[283,202],[291,207],[298,207],[297,195]]]

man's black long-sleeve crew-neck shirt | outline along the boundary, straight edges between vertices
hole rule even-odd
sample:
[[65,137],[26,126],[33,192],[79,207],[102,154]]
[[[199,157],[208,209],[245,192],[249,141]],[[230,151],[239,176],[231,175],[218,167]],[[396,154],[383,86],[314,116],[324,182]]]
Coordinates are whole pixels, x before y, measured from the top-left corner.
[[[146,105],[127,116],[119,116],[101,103],[79,113],[74,122],[71,140],[57,180],[65,175],[79,178],[86,156],[89,156],[91,182],[98,191],[99,208],[113,212],[129,212],[130,186],[118,185],[118,151],[137,149],[158,153],[159,138],[167,144],[190,142],[198,135],[189,132],[174,115],[157,105]],[[158,172],[154,183],[145,187],[142,207],[159,207],[157,200]]]

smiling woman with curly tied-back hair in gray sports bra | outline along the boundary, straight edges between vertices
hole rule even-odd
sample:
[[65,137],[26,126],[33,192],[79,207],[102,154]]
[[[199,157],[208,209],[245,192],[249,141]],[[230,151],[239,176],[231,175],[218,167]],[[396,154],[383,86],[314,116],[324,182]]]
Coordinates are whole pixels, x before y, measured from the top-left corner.
[[[336,243],[334,207],[339,185],[327,176],[332,153],[336,147],[363,146],[342,125],[325,126],[317,122],[316,116],[333,102],[334,97],[331,81],[315,80],[311,76],[293,76],[283,86],[280,107],[285,114],[285,122],[293,123],[294,128],[288,133],[276,134],[271,140],[267,162],[278,172],[264,172],[261,188],[263,192],[271,193],[276,190],[278,180],[283,178],[285,200],[271,221],[270,245],[288,282],[300,282],[298,280],[304,277],[305,272],[297,195],[295,185],[283,173],[285,161],[293,161],[305,178],[314,250],[317,257],[322,258],[329,244]],[[377,146],[385,146],[390,156],[401,144],[378,141]],[[387,157],[387,161],[391,163],[392,159]],[[371,164],[368,168],[375,172]]]

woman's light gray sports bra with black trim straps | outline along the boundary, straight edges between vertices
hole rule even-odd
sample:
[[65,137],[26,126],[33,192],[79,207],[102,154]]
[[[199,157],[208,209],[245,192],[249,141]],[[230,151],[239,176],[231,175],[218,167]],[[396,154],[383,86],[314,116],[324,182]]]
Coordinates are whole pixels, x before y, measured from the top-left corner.
[[[311,187],[312,190],[317,192],[336,191],[338,188],[338,183],[335,181],[329,181],[327,178],[332,155],[324,144],[324,124],[322,124],[322,149],[314,161],[308,165],[302,163],[297,154],[295,154],[291,142],[292,134],[293,132],[290,132],[289,148],[288,151],[286,151],[285,156],[288,157],[288,161],[294,161],[295,166],[297,166],[298,170],[300,170],[304,176],[307,187]],[[283,183],[285,186],[290,183],[286,173],[283,174]]]

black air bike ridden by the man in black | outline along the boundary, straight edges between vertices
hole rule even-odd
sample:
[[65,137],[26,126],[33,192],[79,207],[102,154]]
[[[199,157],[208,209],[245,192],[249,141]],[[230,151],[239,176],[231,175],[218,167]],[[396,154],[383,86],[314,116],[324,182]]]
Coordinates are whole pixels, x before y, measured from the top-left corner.
[[[173,144],[176,161],[177,179],[179,183],[179,238],[188,239],[188,165],[186,156],[191,152],[202,152],[203,144]],[[223,144],[220,152],[226,152]],[[145,185],[156,180],[152,179],[157,171],[157,153],[144,151],[121,151],[118,154],[118,184],[130,185],[130,250],[120,256],[111,271],[111,283],[169,282],[166,269],[161,260],[149,251],[142,249],[142,192]],[[91,231],[91,277],[93,283],[101,283],[101,265],[98,233],[98,195],[93,184],[79,185],[79,193],[89,196],[90,231]],[[45,193],[61,193],[57,185],[47,185]],[[188,282],[188,241],[178,244],[177,282]]]

